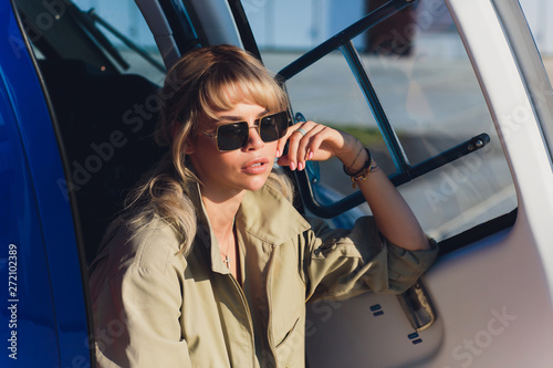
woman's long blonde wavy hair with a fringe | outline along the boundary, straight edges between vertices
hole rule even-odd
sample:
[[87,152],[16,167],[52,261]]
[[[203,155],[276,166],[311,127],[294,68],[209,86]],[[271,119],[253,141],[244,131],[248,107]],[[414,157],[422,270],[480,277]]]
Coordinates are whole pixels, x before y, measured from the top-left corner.
[[[259,60],[231,45],[195,49],[179,59],[167,72],[159,97],[156,141],[169,146],[170,151],[127,196],[112,230],[122,222],[140,228],[158,217],[175,230],[179,253],[186,255],[196,236],[201,199],[194,188],[199,180],[185,150],[198,133],[199,116],[216,117],[217,112],[232,109],[240,102],[278,112],[288,108],[288,98]],[[292,183],[281,170],[273,169],[265,185],[292,201]]]

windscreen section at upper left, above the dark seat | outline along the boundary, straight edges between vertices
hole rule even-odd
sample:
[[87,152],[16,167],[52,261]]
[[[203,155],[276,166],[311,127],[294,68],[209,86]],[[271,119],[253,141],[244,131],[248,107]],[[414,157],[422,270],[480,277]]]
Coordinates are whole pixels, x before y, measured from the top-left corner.
[[136,7],[122,1],[18,0],[22,24],[39,60],[73,60],[104,74],[140,74],[155,84],[165,66]]

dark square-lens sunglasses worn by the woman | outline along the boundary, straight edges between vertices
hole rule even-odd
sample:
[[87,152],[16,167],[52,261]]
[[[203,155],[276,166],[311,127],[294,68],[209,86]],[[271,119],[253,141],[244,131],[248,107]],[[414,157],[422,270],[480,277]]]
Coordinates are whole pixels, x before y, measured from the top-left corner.
[[290,115],[284,111],[255,119],[252,127],[248,122],[237,122],[219,125],[215,134],[200,132],[208,137],[216,138],[217,149],[226,151],[244,147],[250,137],[250,128],[257,128],[261,140],[274,141],[285,135],[289,124]]

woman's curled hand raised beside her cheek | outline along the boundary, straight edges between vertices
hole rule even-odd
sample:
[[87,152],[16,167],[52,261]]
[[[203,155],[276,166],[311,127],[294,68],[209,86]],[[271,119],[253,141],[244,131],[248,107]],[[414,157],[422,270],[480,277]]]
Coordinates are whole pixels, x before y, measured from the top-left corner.
[[[288,154],[280,156],[289,141]],[[362,144],[343,132],[316,124],[314,122],[298,123],[290,126],[284,137],[279,139],[276,151],[280,166],[290,166],[291,170],[303,170],[305,161],[324,161],[336,156],[349,167],[362,149]]]

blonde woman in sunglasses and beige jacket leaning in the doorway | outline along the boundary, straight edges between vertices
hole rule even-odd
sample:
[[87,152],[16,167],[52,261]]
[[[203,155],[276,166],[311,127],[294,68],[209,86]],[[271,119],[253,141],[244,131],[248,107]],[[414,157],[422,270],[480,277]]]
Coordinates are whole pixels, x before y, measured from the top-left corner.
[[[313,122],[288,127],[283,91],[251,55],[194,50],[159,95],[170,155],[91,265],[98,367],[303,367],[307,301],[401,292],[432,263],[368,149]],[[304,219],[273,165],[333,156],[374,214],[351,230]]]

